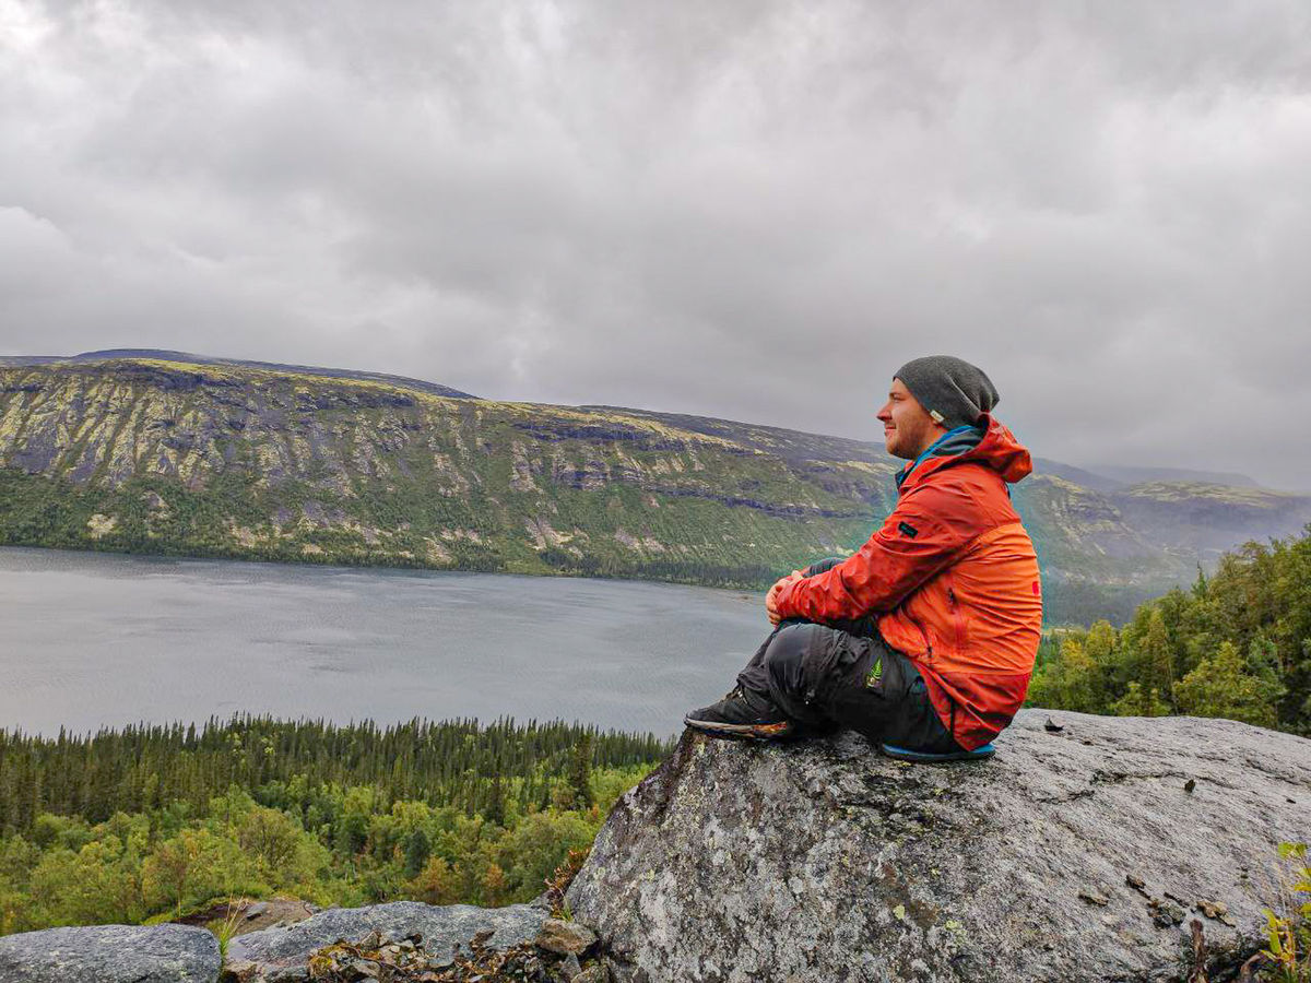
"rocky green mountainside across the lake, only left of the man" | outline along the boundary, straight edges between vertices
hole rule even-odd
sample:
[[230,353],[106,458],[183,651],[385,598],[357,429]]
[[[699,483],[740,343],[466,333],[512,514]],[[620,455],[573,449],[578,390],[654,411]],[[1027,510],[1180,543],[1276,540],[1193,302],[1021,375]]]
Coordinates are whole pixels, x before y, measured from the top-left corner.
[[745,585],[863,541],[891,471],[368,379],[0,367],[9,543]]

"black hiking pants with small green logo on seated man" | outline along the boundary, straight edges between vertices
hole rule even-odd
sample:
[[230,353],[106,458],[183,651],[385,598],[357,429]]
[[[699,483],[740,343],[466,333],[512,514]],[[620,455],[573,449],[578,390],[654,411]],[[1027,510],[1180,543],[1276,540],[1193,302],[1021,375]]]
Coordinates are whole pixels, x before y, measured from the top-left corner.
[[871,741],[933,754],[961,750],[928,701],[919,670],[882,640],[872,617],[836,625],[788,619],[737,682],[753,701],[768,700],[805,727],[850,727]]

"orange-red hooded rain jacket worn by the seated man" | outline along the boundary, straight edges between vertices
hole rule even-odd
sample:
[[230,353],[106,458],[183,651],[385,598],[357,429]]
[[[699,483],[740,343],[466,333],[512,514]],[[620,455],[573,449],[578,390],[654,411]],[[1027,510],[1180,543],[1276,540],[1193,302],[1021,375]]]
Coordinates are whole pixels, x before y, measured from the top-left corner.
[[882,528],[842,564],[789,585],[779,613],[877,615],[957,743],[986,744],[1024,703],[1042,632],[1038,558],[1007,489],[1030,471],[999,421],[957,427],[897,474]]

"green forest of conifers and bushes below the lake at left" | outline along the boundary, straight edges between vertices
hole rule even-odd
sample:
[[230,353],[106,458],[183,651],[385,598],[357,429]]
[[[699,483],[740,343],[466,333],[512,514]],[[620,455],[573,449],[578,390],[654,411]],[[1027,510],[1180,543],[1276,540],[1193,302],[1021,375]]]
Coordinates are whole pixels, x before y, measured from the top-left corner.
[[0,733],[0,935],[240,896],[528,900],[669,750],[511,720]]

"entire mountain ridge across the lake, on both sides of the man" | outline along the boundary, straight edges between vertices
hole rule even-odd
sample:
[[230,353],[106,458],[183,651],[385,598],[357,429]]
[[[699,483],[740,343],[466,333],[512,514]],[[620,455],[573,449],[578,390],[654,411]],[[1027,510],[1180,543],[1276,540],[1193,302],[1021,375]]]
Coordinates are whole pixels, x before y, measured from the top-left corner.
[[[0,363],[0,543],[760,587],[857,548],[881,446],[707,417],[481,400],[338,370],[89,353]],[[1311,497],[1013,488],[1053,620],[1127,617]]]

